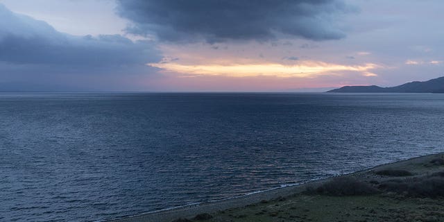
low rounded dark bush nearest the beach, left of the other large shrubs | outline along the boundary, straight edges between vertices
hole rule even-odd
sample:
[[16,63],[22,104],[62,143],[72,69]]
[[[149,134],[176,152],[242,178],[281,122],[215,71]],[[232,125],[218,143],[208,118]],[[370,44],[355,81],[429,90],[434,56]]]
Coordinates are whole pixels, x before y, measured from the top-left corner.
[[354,196],[377,194],[379,191],[366,182],[352,177],[334,178],[316,189],[307,189],[310,193],[325,194],[332,196]]

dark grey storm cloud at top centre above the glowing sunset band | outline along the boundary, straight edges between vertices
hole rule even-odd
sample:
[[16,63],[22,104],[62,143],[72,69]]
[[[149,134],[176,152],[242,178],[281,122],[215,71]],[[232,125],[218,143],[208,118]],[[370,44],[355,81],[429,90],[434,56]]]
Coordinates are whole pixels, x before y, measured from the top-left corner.
[[336,40],[334,22],[352,10],[342,0],[118,0],[119,15],[134,22],[128,33],[172,42],[271,40],[291,35]]

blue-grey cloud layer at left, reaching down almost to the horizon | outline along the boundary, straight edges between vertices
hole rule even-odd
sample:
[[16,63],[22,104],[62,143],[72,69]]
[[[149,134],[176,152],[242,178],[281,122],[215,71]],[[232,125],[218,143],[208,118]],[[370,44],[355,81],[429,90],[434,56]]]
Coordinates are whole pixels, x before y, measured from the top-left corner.
[[[11,12],[0,3],[3,86],[26,81],[42,88],[72,84],[95,89],[101,83],[92,83],[93,78],[99,80],[94,76],[119,78],[122,82],[128,74],[149,74],[154,68],[145,64],[160,61],[160,55],[151,41],[134,42],[122,35],[93,37],[60,33],[46,22]],[[17,89],[28,88],[17,84]]]

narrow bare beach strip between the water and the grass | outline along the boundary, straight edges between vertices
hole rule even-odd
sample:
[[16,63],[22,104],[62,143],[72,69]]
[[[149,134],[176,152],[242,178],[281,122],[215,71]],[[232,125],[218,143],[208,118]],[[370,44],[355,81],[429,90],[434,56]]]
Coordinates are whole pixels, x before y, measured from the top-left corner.
[[[397,162],[392,162],[388,164],[378,165],[369,169],[364,169],[361,171],[356,171],[353,173],[344,174],[341,176],[323,178],[319,180],[313,180],[309,182],[302,183],[300,185],[291,185],[288,187],[278,187],[276,189],[269,189],[266,191],[259,191],[253,194],[247,194],[244,196],[238,196],[234,198],[228,198],[223,200],[214,200],[211,202],[198,203],[193,205],[185,205],[181,207],[174,207],[167,210],[159,210],[156,212],[148,212],[145,214],[138,214],[135,216],[126,216],[119,219],[106,220],[108,222],[171,222],[178,218],[192,218],[198,214],[223,212],[228,209],[233,209],[237,207],[246,207],[248,205],[255,205],[261,201],[275,200],[282,197],[294,196],[296,194],[301,194],[303,191],[307,190],[307,187],[319,187],[326,182],[331,182],[335,178],[343,178],[353,176],[356,178],[368,178],[370,172],[382,171],[385,169],[408,169],[416,174],[421,174],[421,166],[435,158],[443,157],[444,153],[435,153],[431,155],[422,155],[419,157],[413,157],[407,160],[400,160]],[[434,169],[438,171],[438,169]],[[427,172],[429,173],[429,172]]]

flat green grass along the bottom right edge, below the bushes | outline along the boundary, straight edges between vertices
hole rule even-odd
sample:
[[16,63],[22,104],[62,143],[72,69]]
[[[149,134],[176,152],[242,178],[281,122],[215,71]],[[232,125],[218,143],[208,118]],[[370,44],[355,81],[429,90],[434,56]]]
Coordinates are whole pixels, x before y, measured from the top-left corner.
[[271,200],[217,212],[205,222],[444,221],[444,212],[436,210],[441,201],[415,198],[400,201],[381,195],[298,194],[284,202]]

